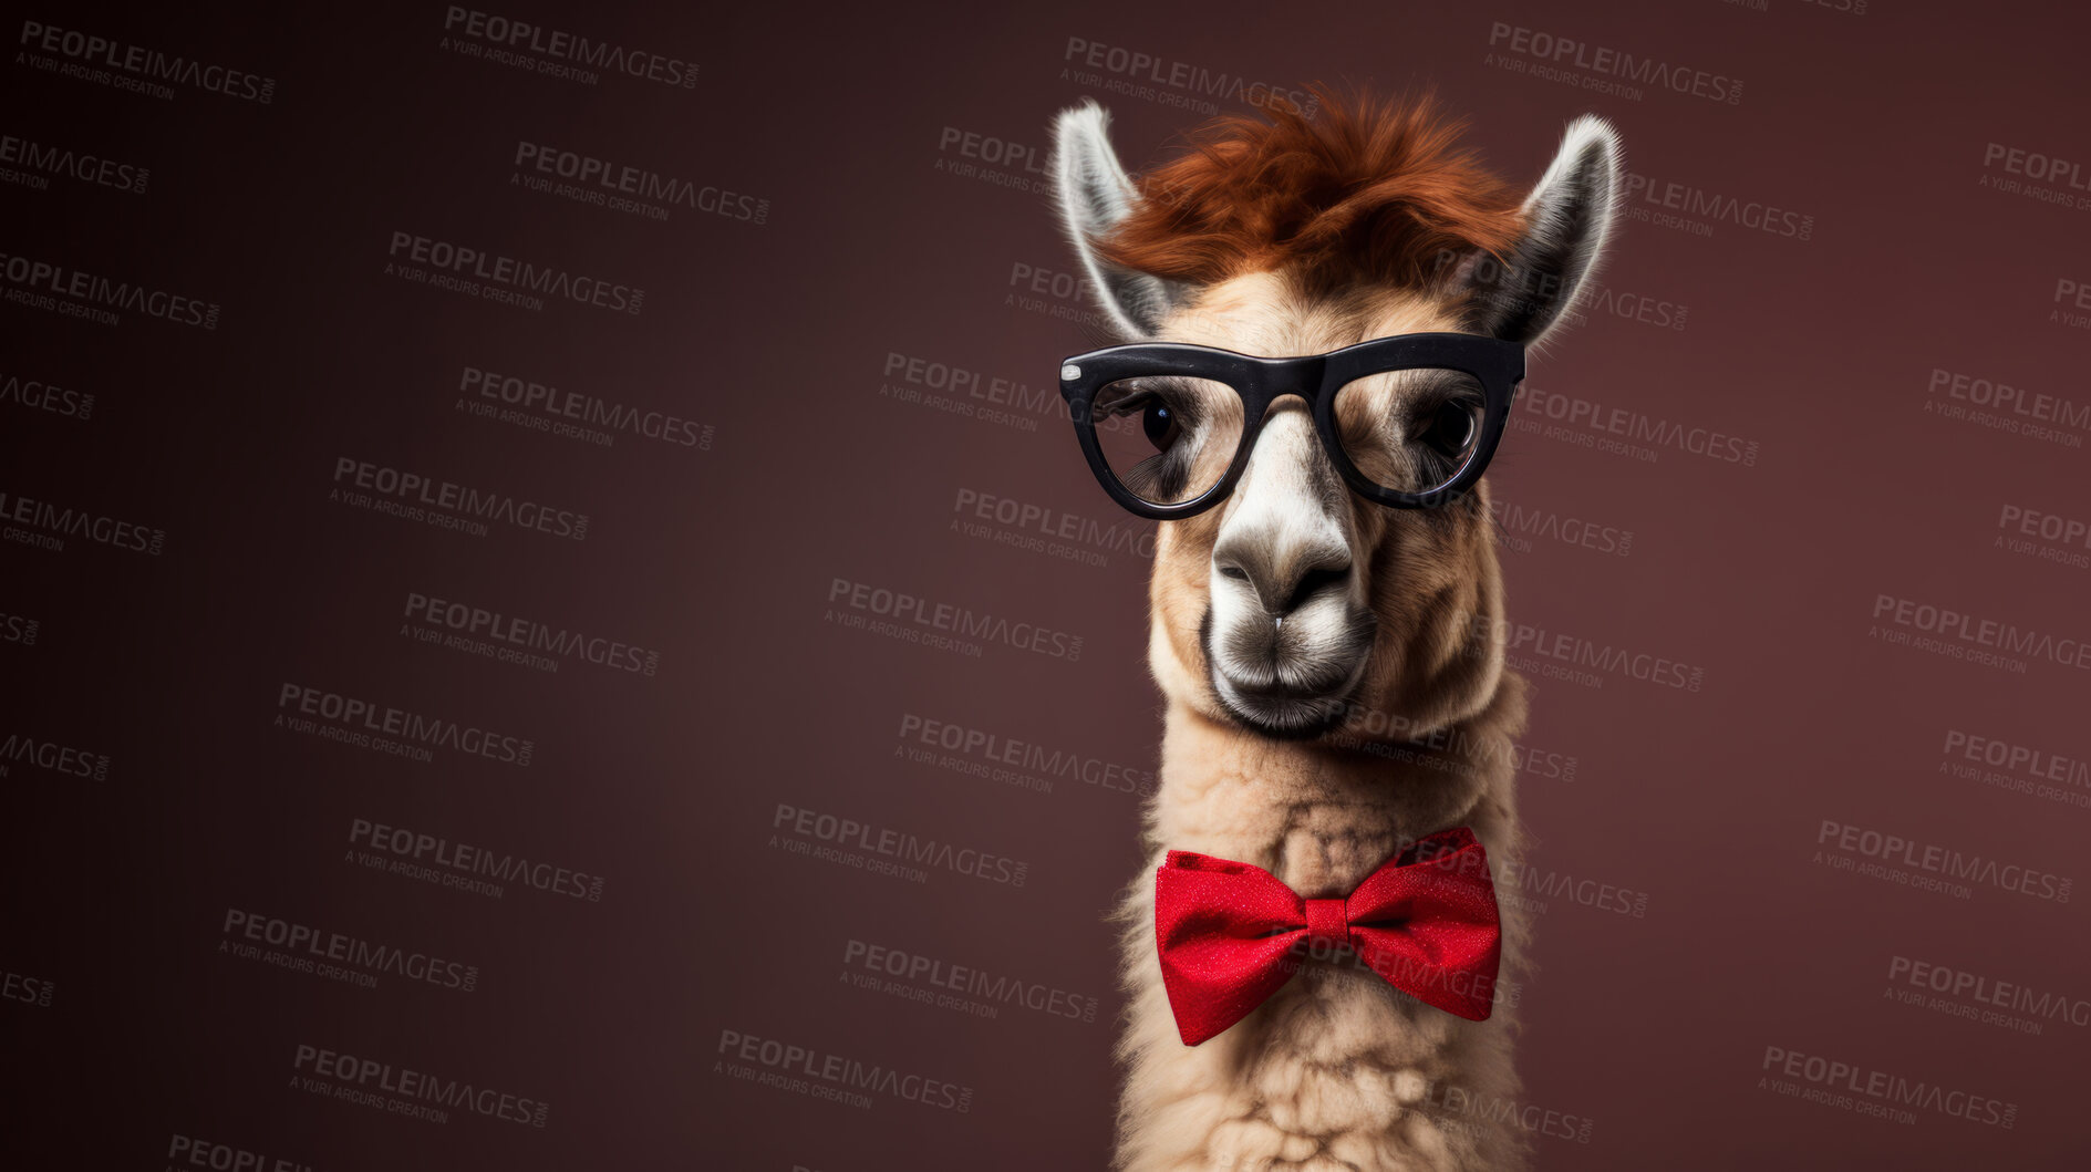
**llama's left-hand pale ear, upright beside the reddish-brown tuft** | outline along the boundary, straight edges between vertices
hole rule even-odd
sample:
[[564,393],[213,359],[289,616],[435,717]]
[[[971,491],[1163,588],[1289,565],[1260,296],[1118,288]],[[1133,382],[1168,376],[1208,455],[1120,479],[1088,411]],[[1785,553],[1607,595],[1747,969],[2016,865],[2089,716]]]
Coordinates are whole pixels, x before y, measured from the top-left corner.
[[1104,313],[1129,338],[1150,338],[1175,297],[1169,282],[1102,261],[1094,240],[1108,234],[1140,205],[1140,192],[1110,148],[1110,113],[1096,102],[1060,111],[1054,119],[1054,184],[1060,196],[1060,228]]

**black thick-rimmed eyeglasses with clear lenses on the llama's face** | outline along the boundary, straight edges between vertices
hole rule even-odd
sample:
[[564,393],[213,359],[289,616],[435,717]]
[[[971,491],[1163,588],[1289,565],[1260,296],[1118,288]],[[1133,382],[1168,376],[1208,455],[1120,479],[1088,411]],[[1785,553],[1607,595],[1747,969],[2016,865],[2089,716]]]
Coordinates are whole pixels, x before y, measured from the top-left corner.
[[1510,420],[1524,347],[1480,334],[1397,334],[1303,357],[1135,343],[1071,357],[1060,395],[1098,483],[1154,520],[1227,497],[1286,395],[1351,489],[1434,508],[1474,487]]

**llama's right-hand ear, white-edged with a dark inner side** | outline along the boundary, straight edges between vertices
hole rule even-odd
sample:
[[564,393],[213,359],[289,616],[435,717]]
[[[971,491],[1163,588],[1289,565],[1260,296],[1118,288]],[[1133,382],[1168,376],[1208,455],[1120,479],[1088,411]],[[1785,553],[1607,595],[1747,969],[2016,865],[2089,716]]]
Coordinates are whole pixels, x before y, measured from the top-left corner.
[[1460,280],[1474,290],[1474,326],[1539,345],[1575,305],[1618,211],[1618,134],[1595,117],[1568,123],[1554,165],[1524,198],[1524,238],[1497,263],[1472,255]]

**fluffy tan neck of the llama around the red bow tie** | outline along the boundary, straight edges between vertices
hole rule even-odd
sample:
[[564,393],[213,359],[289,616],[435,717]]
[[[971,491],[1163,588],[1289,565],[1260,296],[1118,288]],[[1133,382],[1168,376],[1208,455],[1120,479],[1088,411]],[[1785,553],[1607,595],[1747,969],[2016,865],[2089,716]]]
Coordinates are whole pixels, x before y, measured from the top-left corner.
[[[1355,963],[1309,961],[1232,1030],[1186,1047],[1154,946],[1154,867],[1167,850],[1255,863],[1303,896],[1338,896],[1407,842],[1466,825],[1503,875],[1518,854],[1510,744],[1522,725],[1524,685],[1508,673],[1430,744],[1340,731],[1278,742],[1171,698],[1163,783],[1146,817],[1150,859],[1121,907],[1131,992],[1119,1047],[1129,1063],[1121,1168],[1522,1164],[1514,1126],[1447,1105],[1487,1107],[1518,1093],[1514,1013],[1501,994],[1491,1019],[1466,1022]],[[1514,900],[1501,911],[1510,986],[1522,976],[1526,923]]]

